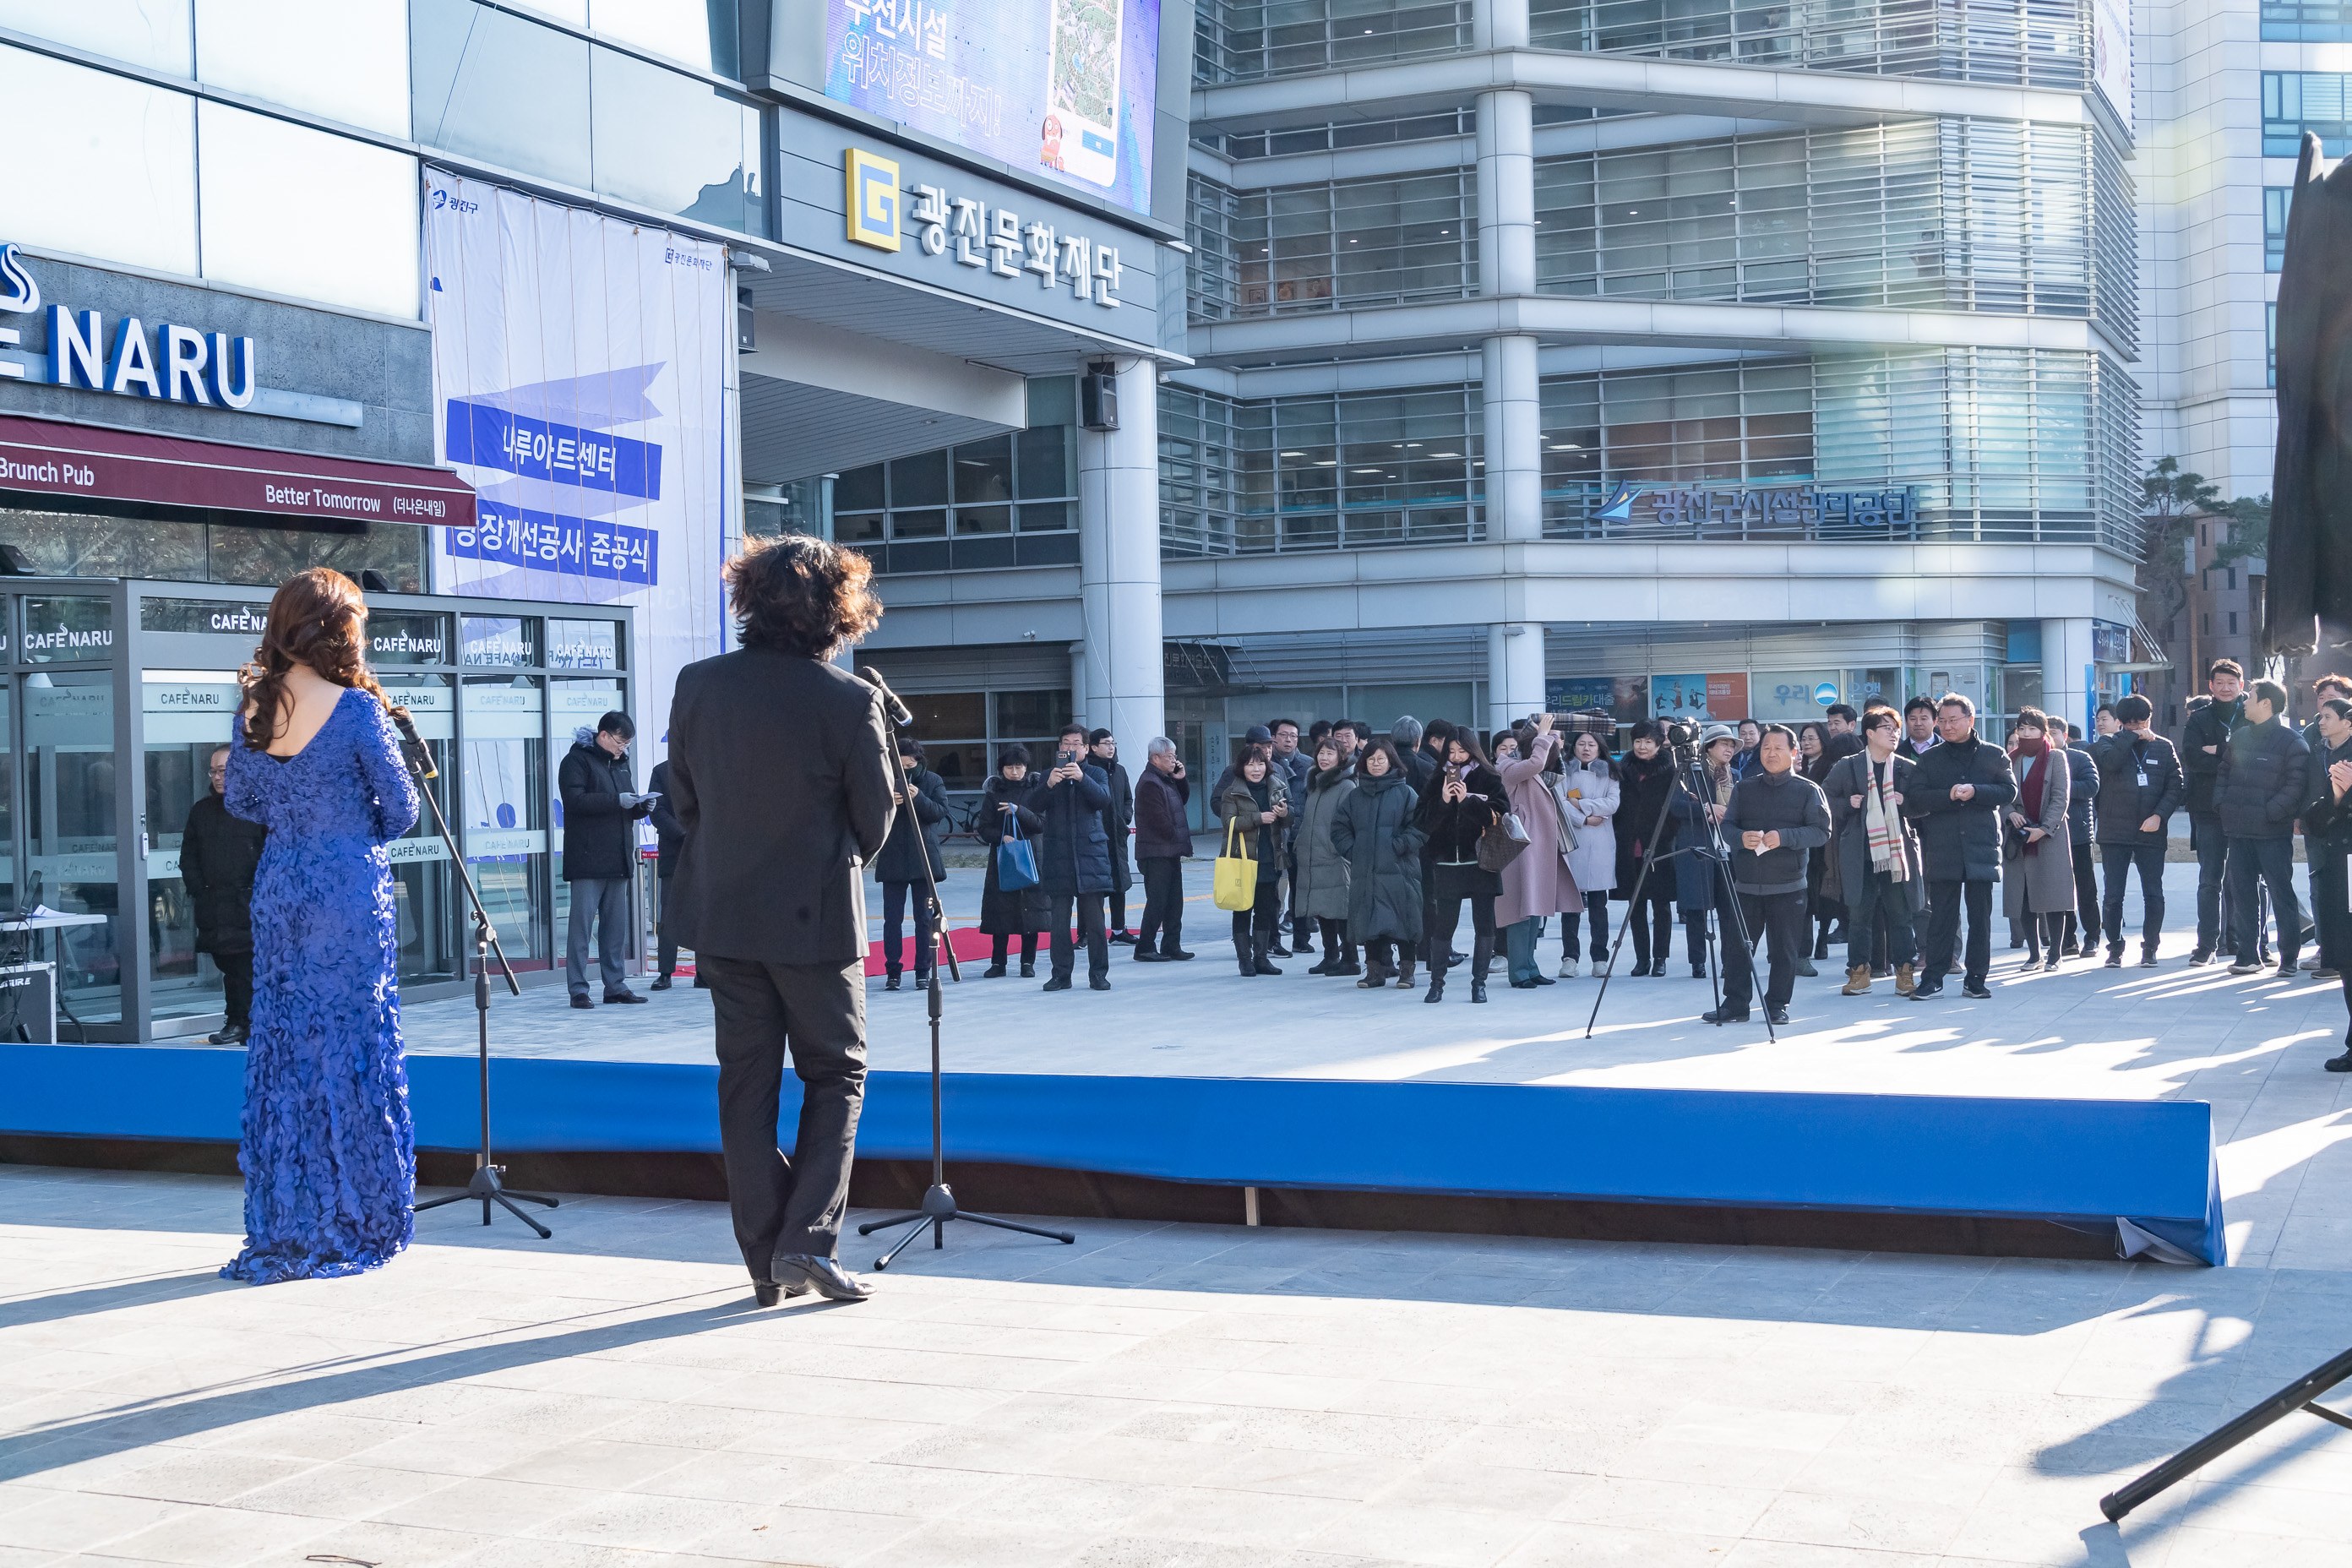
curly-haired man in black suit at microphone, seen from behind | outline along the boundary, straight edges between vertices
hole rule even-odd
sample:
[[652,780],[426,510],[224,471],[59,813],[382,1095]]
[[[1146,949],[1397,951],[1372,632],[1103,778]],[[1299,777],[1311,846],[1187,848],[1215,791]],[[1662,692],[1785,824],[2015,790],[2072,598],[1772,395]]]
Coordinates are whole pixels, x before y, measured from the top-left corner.
[[[828,663],[882,618],[863,555],[786,534],[727,564],[743,646],[677,672],[670,809],[687,842],[670,936],[710,978],[720,1143],[760,1305],[861,1300],[833,1258],[866,1100],[866,863],[891,825],[882,703]],[[776,1147],[783,1058],[800,1077]]]

